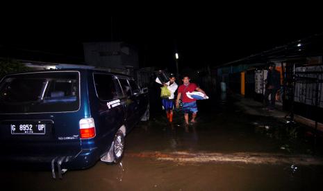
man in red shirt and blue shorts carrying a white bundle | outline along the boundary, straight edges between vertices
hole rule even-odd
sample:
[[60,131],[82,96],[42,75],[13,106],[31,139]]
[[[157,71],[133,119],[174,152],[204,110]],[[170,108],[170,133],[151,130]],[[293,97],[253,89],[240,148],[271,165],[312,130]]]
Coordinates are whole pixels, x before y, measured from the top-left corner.
[[181,99],[183,102],[183,112],[184,112],[184,118],[185,118],[185,125],[188,125],[188,119],[189,119],[189,113],[192,113],[192,120],[190,122],[194,123],[195,118],[197,117],[197,102],[195,99],[188,98],[186,95],[186,92],[192,92],[192,91],[199,91],[201,93],[205,92],[197,87],[196,84],[190,83],[190,77],[188,75],[185,75],[183,78],[183,84],[179,87],[179,91],[177,93],[177,99],[176,99],[176,107],[179,107],[179,100]]

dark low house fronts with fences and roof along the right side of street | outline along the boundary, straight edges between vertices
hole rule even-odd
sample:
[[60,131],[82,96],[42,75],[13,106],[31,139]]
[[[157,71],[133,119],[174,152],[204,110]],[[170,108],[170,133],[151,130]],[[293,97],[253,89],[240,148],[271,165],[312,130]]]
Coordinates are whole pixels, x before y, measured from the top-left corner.
[[[268,63],[281,73],[276,94],[285,111],[323,122],[323,33],[217,66],[217,79],[242,96],[262,101]],[[317,125],[317,124],[316,124]]]

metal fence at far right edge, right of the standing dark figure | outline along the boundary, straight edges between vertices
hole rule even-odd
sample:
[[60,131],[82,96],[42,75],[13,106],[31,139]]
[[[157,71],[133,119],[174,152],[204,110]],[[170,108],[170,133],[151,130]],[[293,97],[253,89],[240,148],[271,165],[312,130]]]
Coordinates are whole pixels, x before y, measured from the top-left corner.
[[285,109],[323,122],[323,65],[287,64],[285,67]]

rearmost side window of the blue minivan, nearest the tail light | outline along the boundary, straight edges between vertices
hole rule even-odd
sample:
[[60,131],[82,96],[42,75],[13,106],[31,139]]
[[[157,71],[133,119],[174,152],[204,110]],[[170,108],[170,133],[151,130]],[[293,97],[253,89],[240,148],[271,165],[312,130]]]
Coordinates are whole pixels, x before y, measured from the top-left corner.
[[113,75],[94,73],[94,84],[100,100],[115,100],[118,98]]

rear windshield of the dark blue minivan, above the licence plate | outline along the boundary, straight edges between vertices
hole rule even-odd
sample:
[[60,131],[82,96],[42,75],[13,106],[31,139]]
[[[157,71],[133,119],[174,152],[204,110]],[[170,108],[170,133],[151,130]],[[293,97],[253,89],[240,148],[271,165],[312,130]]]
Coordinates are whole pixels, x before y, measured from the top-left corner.
[[76,111],[78,72],[8,75],[0,82],[0,113]]

